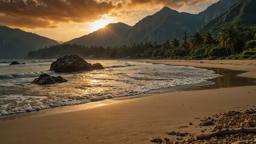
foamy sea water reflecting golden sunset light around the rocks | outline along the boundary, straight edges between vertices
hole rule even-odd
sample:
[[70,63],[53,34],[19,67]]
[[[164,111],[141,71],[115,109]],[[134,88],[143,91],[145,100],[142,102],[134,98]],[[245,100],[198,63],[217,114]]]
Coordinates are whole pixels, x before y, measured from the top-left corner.
[[[49,71],[54,59],[21,59],[15,61],[25,65],[9,65],[12,61],[0,60],[0,116],[139,95],[220,76],[202,68],[114,60],[88,61],[101,63],[104,70],[54,73]],[[68,82],[31,84],[43,73],[62,76]]]

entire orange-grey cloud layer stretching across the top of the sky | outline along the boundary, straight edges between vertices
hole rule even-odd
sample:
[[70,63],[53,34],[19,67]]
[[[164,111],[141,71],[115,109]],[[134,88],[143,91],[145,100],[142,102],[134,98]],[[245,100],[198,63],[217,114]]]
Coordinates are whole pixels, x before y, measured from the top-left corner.
[[60,23],[93,22],[105,14],[137,20],[156,8],[189,8],[213,1],[217,0],[0,0],[0,25],[57,28]]

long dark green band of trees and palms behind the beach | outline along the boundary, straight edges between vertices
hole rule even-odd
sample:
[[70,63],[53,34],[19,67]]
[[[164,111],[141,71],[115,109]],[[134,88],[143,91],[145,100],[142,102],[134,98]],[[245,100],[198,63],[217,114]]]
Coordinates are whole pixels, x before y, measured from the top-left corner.
[[256,26],[240,23],[222,28],[217,35],[206,32],[184,33],[164,43],[130,43],[102,47],[60,44],[29,52],[27,59],[56,59],[77,54],[86,59],[256,59]]

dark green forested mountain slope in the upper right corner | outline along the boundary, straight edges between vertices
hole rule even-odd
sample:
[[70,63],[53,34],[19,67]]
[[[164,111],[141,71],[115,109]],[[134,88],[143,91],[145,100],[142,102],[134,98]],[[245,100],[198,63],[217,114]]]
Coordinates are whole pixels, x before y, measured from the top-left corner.
[[243,26],[255,26],[255,5],[255,0],[240,0],[220,17],[217,17],[207,25],[200,28],[200,32],[211,31],[213,34],[217,34],[223,26],[235,25],[235,23],[238,22]]

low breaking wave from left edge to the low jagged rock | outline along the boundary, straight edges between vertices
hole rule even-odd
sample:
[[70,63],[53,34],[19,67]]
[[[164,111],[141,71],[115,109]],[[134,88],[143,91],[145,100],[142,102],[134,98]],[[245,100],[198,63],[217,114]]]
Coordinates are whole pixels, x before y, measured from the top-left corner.
[[31,73],[21,73],[21,74],[4,74],[0,75],[0,79],[17,79],[17,78],[28,78],[28,77],[38,77],[40,74],[54,74],[54,71],[36,71]]

